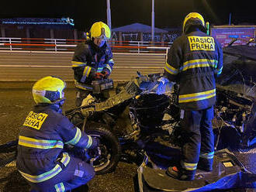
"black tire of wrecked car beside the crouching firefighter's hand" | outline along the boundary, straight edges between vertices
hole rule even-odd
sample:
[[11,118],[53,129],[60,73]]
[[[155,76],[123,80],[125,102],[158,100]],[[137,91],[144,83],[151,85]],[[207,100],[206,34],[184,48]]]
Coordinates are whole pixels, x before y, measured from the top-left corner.
[[88,122],[85,132],[88,135],[99,138],[101,155],[93,162],[96,174],[111,173],[116,169],[122,153],[119,139],[109,131],[107,125],[97,122]]

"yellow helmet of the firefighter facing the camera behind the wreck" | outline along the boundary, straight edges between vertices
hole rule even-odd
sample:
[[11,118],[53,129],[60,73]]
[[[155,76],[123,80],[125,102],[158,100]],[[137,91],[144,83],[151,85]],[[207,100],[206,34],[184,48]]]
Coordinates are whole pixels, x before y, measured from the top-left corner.
[[110,32],[109,26],[107,26],[104,22],[95,22],[90,29],[90,35],[91,35],[91,39],[92,38],[110,39],[111,32]]

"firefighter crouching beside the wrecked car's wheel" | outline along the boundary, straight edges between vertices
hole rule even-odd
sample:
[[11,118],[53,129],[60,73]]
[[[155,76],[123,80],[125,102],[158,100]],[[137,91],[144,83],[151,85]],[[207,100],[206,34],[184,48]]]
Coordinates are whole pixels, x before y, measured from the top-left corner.
[[64,145],[93,149],[99,140],[81,132],[64,115],[66,84],[58,77],[43,77],[33,85],[36,102],[19,132],[16,166],[31,191],[66,191],[88,183],[94,168],[71,156]]

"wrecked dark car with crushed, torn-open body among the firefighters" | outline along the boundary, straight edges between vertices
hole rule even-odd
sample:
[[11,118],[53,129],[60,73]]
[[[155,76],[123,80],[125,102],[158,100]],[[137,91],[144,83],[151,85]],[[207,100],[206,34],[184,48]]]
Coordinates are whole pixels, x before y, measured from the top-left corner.
[[[223,74],[216,81],[215,148],[252,147],[256,143],[255,47],[227,47],[223,53]],[[114,94],[106,101],[96,98],[66,111],[65,115],[74,125],[100,140],[99,148],[85,159],[95,167],[96,173],[112,172],[119,160],[140,165],[144,156],[154,156],[161,161],[156,154],[166,147],[182,146],[177,87],[171,82],[163,84],[162,76],[138,73],[137,77],[112,88]],[[102,87],[109,84],[99,83]],[[16,145],[13,141],[0,146],[5,153],[0,158],[2,166],[15,159]],[[81,156],[85,156],[84,151]],[[170,156],[178,157],[178,150]],[[175,160],[168,159],[168,162]]]

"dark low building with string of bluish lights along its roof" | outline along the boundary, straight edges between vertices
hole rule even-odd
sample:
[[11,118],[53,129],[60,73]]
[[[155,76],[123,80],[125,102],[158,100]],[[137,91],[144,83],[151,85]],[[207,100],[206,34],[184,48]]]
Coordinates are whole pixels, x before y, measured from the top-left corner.
[[74,29],[70,18],[0,19],[1,37],[81,39],[83,33]]

